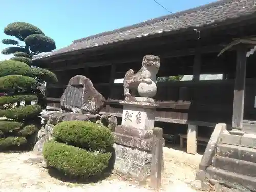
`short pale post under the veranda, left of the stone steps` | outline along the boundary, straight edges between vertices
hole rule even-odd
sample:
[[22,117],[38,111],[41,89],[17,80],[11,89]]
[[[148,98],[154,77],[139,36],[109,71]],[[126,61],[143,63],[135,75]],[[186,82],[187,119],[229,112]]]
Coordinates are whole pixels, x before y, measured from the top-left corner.
[[197,154],[197,131],[197,125],[187,125],[187,153]]

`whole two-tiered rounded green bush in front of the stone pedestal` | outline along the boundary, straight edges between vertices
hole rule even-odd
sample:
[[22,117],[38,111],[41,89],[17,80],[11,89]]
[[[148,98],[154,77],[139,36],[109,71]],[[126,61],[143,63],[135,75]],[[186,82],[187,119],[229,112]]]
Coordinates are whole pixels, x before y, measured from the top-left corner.
[[53,136],[43,150],[48,167],[81,178],[100,176],[109,168],[114,137],[107,127],[64,121],[54,127]]

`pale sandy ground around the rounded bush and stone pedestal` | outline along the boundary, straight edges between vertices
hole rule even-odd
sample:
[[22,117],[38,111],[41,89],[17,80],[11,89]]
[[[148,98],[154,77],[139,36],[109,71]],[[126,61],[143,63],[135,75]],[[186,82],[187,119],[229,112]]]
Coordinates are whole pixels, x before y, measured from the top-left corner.
[[[39,164],[27,160],[36,157],[32,152],[0,154],[0,191],[6,192],[48,192],[48,191],[112,191],[112,192],[149,192],[147,184],[138,184],[122,176],[113,174],[109,178],[93,184],[63,182],[51,177]],[[161,191],[193,192],[190,183],[195,180],[195,171],[201,155],[164,147],[165,170],[162,174]]]

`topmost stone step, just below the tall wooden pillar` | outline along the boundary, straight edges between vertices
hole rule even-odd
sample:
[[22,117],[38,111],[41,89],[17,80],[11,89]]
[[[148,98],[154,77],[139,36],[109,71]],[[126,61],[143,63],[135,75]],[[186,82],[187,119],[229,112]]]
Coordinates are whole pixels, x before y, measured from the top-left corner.
[[232,135],[225,132],[220,135],[220,143],[230,144],[236,146],[243,146],[256,149],[256,135],[244,134],[244,135]]

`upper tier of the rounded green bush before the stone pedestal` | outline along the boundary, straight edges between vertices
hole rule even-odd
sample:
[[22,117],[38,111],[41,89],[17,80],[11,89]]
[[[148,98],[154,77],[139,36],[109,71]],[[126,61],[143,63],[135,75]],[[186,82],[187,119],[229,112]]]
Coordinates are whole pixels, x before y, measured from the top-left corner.
[[114,143],[111,131],[98,123],[88,121],[63,121],[53,130],[53,136],[70,145],[90,151],[105,151]]

